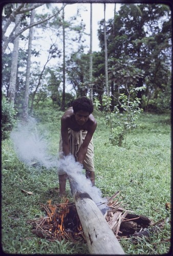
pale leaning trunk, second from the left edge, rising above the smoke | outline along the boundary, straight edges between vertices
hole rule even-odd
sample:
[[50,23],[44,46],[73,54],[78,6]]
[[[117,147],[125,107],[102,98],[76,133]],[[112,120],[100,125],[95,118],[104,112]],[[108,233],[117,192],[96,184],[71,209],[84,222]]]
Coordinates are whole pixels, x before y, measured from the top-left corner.
[[[31,11],[30,24],[34,23],[34,16],[35,16],[35,10],[32,10]],[[28,57],[27,57],[25,96],[24,96],[23,114],[22,114],[22,117],[25,121],[28,120],[28,103],[29,103],[29,85],[30,85],[30,67],[31,67],[31,54],[32,54],[32,38],[33,38],[33,27],[29,29],[29,39],[28,39]]]

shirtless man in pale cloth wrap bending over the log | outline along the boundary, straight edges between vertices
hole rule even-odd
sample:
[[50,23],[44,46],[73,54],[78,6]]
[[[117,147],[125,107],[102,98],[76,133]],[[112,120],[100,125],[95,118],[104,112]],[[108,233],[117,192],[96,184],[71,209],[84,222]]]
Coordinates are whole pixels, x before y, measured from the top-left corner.
[[[87,97],[81,97],[73,101],[69,108],[61,117],[61,136],[59,141],[59,157],[72,154],[76,161],[83,164],[86,177],[91,179],[95,185],[94,169],[94,146],[93,134],[97,127],[97,122],[92,115],[93,103]],[[65,173],[59,173],[59,195],[66,194]]]

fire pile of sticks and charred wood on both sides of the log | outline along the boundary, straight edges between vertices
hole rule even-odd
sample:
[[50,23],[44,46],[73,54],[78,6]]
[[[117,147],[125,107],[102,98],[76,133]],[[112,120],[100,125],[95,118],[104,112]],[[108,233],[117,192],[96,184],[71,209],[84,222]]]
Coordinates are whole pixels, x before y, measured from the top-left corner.
[[[151,221],[145,216],[129,214],[127,210],[121,208],[116,199],[118,194],[119,192],[115,193],[107,200],[106,205],[103,205],[103,208],[106,206],[104,218],[117,239],[140,236]],[[81,239],[86,241],[74,203],[69,203],[66,199],[66,202],[61,204],[51,204],[51,201],[48,201],[48,204],[40,205],[45,209],[47,217],[28,221],[32,224],[32,232],[36,236],[50,241],[63,239],[72,242]]]

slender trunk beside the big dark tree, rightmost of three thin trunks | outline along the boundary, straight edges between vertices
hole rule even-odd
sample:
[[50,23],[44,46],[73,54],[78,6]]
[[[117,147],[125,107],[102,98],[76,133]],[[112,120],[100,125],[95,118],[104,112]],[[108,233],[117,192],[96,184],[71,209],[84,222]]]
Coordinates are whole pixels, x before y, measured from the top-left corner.
[[106,10],[106,4],[104,3],[104,63],[105,63],[105,86],[106,86],[106,95],[109,96],[109,83],[108,83],[108,71],[107,71],[107,39],[106,39],[105,10]]

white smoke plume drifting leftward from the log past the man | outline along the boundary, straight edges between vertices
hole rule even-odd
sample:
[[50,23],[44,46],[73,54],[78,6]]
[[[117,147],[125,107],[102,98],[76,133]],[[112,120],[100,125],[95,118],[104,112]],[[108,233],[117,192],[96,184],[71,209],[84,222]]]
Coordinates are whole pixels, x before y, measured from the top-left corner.
[[82,164],[76,162],[72,155],[58,160],[58,145],[57,156],[50,156],[47,152],[48,143],[45,138],[46,136],[41,135],[36,129],[34,118],[30,118],[25,124],[18,123],[16,129],[11,132],[11,139],[20,161],[31,166],[41,165],[47,169],[56,167],[58,174],[62,171],[73,178],[78,191],[88,193],[95,203],[103,202],[100,189],[92,186],[90,179],[82,173]]

